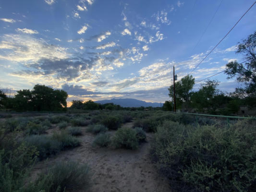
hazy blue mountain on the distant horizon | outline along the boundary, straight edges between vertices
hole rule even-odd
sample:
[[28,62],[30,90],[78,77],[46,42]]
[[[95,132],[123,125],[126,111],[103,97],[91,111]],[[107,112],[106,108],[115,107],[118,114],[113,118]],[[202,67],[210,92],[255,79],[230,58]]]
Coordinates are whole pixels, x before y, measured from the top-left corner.
[[161,104],[160,103],[151,103],[151,102],[146,102],[146,101],[141,101],[141,100],[137,100],[137,99],[110,99],[110,100],[101,100],[101,101],[95,101],[96,103],[100,103],[100,104],[105,104],[105,103],[113,103],[115,105],[120,105],[122,107],[135,107],[135,108],[139,108],[139,107],[160,107]]

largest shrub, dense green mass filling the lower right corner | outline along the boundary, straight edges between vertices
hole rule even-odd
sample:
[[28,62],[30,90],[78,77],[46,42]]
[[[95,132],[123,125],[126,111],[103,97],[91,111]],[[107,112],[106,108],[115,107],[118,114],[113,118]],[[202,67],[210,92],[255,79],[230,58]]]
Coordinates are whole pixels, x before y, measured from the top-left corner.
[[255,122],[230,127],[185,126],[166,121],[155,133],[151,155],[174,191],[256,190]]

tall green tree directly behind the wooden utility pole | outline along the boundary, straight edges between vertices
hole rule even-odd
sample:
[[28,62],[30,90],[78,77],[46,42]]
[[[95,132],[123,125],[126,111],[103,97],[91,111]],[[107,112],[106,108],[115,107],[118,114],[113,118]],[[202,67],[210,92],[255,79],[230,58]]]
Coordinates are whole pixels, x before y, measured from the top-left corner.
[[[176,92],[176,105],[177,108],[181,108],[183,102],[188,107],[191,90],[195,84],[195,78],[192,75],[184,76],[180,81],[175,83],[175,92]],[[168,88],[169,96],[173,97],[173,85]]]

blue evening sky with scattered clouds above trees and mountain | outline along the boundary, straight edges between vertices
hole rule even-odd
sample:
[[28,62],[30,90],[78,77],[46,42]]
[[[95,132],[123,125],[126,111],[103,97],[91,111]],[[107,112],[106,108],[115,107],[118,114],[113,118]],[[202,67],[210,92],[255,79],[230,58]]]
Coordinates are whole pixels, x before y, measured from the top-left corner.
[[[45,84],[67,91],[69,102],[170,100],[173,66],[178,80],[190,73],[253,3],[0,0],[0,88]],[[195,82],[232,60],[243,62],[236,45],[255,30],[256,5],[191,73]],[[239,86],[224,73],[211,80],[218,80],[223,92]]]

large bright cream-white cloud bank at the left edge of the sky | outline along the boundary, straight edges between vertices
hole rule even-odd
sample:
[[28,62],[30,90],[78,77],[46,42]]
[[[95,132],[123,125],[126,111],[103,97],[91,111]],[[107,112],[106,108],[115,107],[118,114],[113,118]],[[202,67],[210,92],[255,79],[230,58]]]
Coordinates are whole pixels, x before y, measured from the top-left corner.
[[69,54],[66,48],[48,44],[43,39],[36,39],[24,34],[8,34],[0,41],[0,59],[15,62],[36,62],[42,58],[64,59]]

